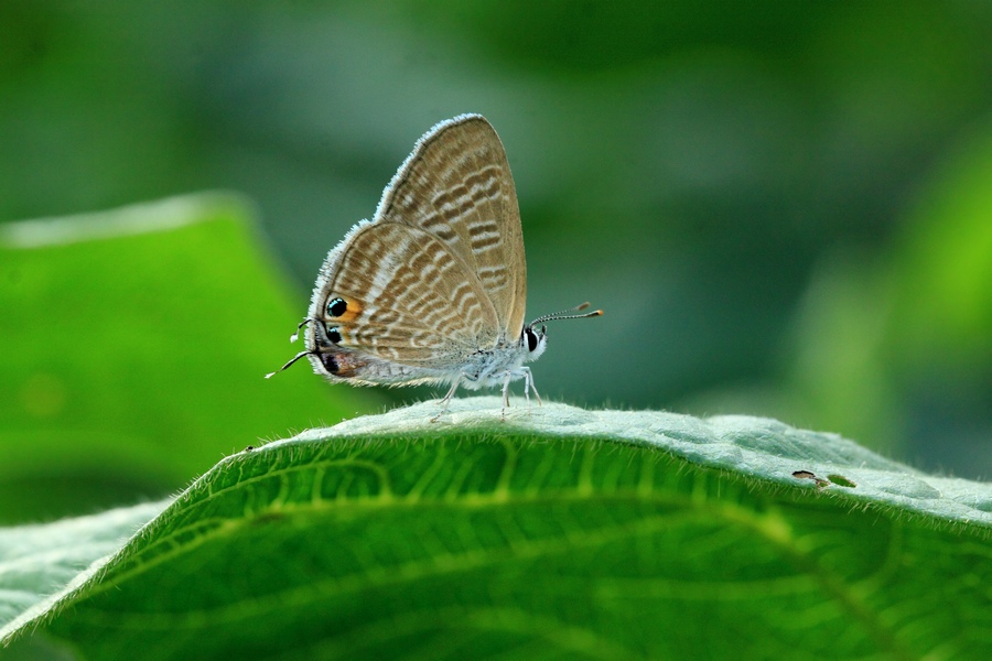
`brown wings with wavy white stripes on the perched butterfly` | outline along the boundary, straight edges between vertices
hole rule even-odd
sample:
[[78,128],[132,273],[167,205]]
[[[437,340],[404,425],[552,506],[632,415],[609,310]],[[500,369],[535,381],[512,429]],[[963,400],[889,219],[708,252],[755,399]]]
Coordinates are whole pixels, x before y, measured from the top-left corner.
[[360,354],[451,369],[478,349],[517,340],[527,295],[524,238],[513,176],[492,126],[462,116],[424,136],[386,188],[375,219],[332,251],[322,275],[313,312],[337,296],[348,302],[339,319],[322,318],[328,327],[339,321],[336,344],[359,353],[341,358],[359,372],[371,369],[360,367]]

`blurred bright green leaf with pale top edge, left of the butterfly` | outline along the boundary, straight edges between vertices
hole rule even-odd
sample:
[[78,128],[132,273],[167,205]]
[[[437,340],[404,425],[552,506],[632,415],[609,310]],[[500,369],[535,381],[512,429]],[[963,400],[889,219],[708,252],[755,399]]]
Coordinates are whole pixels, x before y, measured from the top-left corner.
[[299,350],[306,296],[252,226],[219,194],[0,226],[0,521],[158,498],[370,409],[305,368],[263,379]]

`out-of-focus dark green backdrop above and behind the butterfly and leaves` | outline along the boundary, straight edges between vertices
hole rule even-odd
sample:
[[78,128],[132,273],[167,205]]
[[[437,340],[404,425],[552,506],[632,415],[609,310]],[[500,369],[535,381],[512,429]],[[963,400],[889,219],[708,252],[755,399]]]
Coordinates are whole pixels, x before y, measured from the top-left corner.
[[482,112],[528,316],[606,311],[551,326],[544,397],[776,416],[988,478],[990,43],[972,0],[4,0],[0,220],[238,191],[289,274],[284,343],[416,139]]

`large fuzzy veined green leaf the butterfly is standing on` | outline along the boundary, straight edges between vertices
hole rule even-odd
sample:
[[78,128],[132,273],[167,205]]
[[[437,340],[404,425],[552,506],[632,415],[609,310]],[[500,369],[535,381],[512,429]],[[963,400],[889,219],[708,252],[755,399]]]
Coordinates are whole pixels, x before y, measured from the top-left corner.
[[[500,422],[495,398],[435,412],[238,453],[157,517],[6,531],[0,595],[39,606],[3,597],[19,618],[0,638],[43,622],[35,638],[86,659],[992,652],[990,485],[766,419],[546,404]],[[142,517],[116,555],[80,551],[76,578],[46,559],[63,556],[46,535]]]

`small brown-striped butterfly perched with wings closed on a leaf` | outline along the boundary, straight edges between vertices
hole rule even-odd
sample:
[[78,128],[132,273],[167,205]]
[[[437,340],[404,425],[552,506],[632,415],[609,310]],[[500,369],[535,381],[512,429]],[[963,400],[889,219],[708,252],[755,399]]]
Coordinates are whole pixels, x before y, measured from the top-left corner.
[[[538,324],[589,303],[524,323],[527,263],[520,209],[506,151],[481,115],[460,115],[428,131],[386,186],[373,220],[352,228],[327,254],[306,317],[305,350],[328,381],[353,386],[450,383],[440,416],[460,386],[533,386],[525,362],[547,346]],[[267,375],[266,378],[277,372]],[[435,418],[436,420],[436,418]]]

